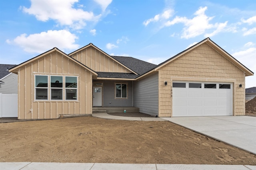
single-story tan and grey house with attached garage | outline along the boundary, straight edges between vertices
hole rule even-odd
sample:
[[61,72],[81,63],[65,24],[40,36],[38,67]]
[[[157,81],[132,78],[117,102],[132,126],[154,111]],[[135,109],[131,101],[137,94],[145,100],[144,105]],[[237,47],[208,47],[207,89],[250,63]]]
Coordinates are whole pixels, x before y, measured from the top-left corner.
[[69,55],[53,48],[10,72],[18,74],[18,119],[91,114],[93,107],[138,107],[158,117],[244,115],[245,76],[254,74],[210,38],[158,65],[90,43]]

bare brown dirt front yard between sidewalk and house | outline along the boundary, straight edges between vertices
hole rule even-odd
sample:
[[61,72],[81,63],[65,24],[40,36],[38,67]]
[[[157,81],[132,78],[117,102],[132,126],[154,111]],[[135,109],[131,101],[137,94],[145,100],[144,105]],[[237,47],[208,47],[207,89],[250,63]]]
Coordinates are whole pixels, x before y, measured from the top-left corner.
[[0,162],[256,165],[256,155],[168,121],[20,121],[0,123],[0,137]]

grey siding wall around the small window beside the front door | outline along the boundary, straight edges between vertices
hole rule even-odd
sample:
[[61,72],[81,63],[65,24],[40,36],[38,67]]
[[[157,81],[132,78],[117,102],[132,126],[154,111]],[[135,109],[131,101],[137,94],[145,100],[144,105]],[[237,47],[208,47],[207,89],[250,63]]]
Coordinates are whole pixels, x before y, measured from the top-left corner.
[[[93,81],[93,83],[102,83],[103,86],[103,107],[132,107],[132,81],[103,80]],[[116,85],[127,84],[127,98],[115,98]],[[111,102],[111,103],[110,103]]]

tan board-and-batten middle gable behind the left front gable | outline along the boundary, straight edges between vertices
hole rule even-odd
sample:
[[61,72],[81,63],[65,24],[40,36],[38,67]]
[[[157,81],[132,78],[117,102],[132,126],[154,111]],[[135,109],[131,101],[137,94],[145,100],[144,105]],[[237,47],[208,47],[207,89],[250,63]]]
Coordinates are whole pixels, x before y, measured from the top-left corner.
[[71,57],[96,72],[131,73],[130,70],[92,46],[72,54]]

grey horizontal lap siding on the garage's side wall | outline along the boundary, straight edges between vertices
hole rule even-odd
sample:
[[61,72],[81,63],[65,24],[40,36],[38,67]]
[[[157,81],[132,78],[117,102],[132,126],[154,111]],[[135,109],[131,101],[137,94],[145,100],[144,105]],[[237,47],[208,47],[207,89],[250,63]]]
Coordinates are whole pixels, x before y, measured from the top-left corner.
[[134,107],[141,113],[158,115],[158,72],[134,81]]

